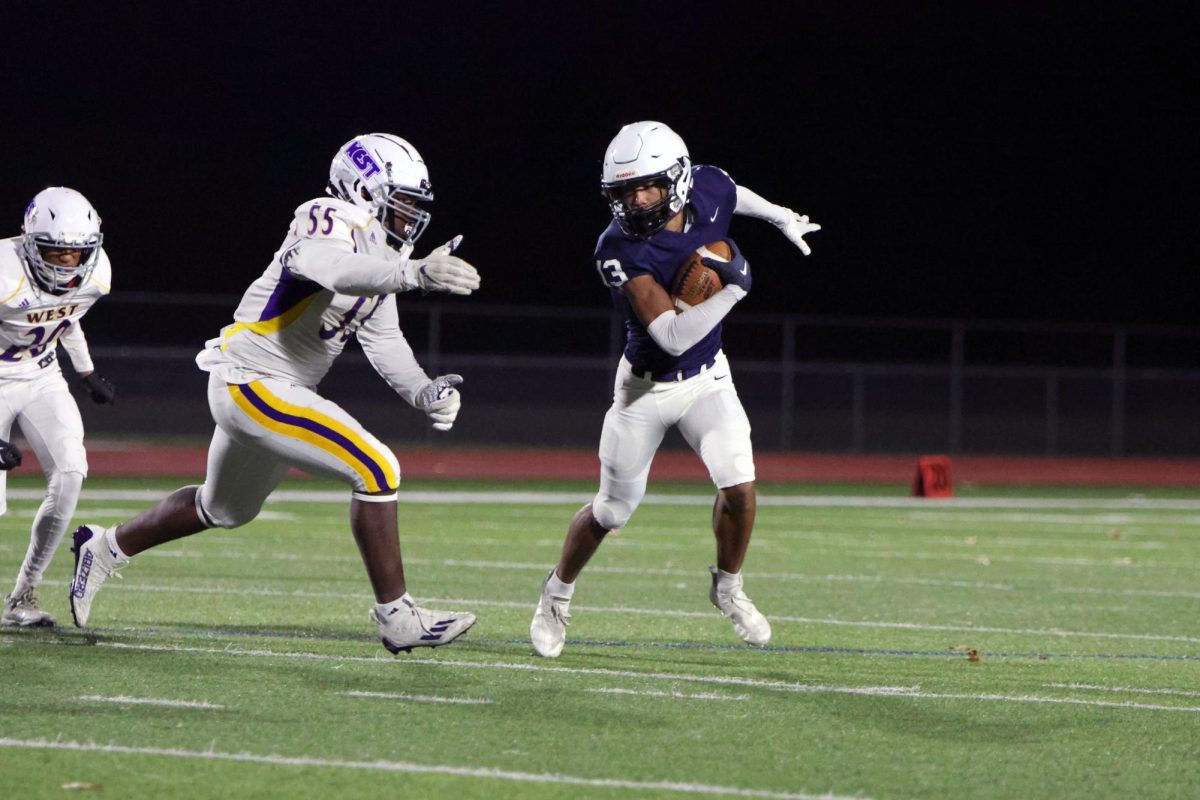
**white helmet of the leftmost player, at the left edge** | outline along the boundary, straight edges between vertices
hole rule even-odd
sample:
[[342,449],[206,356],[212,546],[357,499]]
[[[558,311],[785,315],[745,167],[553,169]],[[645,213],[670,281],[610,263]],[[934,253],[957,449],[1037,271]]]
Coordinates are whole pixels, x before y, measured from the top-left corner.
[[[65,295],[83,285],[100,261],[100,215],[79,192],[52,186],[38,192],[25,207],[23,243],[30,281],[42,291]],[[78,264],[46,260],[49,251],[78,251]]]

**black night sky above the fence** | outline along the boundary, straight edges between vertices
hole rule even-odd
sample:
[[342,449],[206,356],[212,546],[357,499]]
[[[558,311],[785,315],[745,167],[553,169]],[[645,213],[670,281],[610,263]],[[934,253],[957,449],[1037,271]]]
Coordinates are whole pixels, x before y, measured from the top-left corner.
[[[760,312],[1194,323],[1200,11],[1141,2],[5,4],[16,235],[48,185],[115,291],[239,294],[355,133],[409,139],[478,301],[606,307],[620,125],[826,225],[733,235]],[[463,300],[462,302],[472,302]],[[230,308],[232,311],[232,308]],[[215,331],[197,331],[197,339]]]

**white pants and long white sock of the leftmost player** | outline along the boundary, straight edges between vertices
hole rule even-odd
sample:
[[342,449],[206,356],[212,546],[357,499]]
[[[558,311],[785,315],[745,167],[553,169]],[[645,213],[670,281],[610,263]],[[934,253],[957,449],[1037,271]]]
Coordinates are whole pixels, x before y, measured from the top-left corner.
[[[79,503],[88,476],[88,453],[83,447],[79,407],[56,368],[32,380],[0,380],[0,439],[11,440],[13,422],[20,426],[47,481],[46,498],[34,517],[29,549],[17,572],[19,590],[42,582]],[[7,476],[8,473],[0,471],[0,515],[8,510]]]

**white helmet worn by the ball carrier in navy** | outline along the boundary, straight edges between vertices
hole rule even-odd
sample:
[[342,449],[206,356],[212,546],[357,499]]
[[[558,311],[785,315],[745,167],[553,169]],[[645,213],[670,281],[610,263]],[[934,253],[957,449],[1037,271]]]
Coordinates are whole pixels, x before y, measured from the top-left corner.
[[[659,185],[662,200],[644,209],[624,197],[635,186]],[[679,134],[662,122],[630,122],[617,133],[604,157],[600,191],[626,235],[649,239],[688,204],[691,158]]]

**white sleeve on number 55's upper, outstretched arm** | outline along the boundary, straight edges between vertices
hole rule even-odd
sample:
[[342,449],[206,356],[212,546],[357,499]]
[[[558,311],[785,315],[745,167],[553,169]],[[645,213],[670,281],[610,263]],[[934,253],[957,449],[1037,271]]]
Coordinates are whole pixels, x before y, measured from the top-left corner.
[[353,245],[336,239],[304,239],[287,263],[298,275],[340,294],[392,294],[418,288],[408,259],[355,253]]

